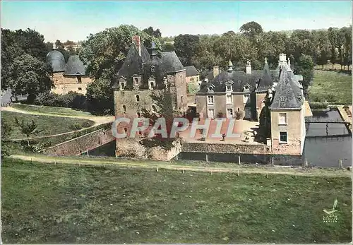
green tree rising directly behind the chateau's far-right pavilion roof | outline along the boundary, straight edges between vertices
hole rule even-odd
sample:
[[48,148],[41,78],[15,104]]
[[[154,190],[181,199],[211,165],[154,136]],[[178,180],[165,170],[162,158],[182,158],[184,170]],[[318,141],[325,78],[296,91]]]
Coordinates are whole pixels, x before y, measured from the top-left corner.
[[294,65],[294,73],[301,74],[303,76],[303,90],[304,95],[308,94],[309,85],[311,85],[311,80],[313,80],[313,59],[311,56],[302,54]]

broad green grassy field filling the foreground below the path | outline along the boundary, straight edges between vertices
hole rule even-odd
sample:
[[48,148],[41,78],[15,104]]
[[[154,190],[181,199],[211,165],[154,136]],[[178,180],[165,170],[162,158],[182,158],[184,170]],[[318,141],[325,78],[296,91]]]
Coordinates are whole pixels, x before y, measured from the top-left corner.
[[[345,243],[345,177],[78,167],[4,160],[4,243]],[[337,198],[337,223],[323,209]]]

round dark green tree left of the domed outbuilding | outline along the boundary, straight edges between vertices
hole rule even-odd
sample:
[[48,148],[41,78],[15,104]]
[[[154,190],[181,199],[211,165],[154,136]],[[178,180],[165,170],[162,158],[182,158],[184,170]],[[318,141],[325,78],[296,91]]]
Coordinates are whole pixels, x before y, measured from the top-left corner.
[[14,59],[8,71],[8,83],[13,95],[28,93],[28,102],[32,103],[36,95],[54,87],[51,68],[31,56],[23,54]]

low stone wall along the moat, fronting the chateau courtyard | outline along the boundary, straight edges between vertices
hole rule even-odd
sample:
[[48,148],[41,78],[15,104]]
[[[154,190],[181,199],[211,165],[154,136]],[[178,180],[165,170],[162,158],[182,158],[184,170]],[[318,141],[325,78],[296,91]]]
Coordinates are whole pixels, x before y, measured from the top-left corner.
[[270,154],[267,145],[251,144],[220,144],[220,143],[186,143],[181,148],[186,153],[242,153],[242,154]]

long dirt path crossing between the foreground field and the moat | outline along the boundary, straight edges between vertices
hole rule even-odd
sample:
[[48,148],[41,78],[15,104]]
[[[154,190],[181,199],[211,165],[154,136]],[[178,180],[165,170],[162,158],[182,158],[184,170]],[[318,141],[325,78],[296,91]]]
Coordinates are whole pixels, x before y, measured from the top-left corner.
[[347,169],[304,169],[301,167],[291,168],[291,167],[250,167],[250,166],[238,166],[234,167],[202,167],[195,165],[178,165],[174,162],[148,162],[148,161],[126,161],[116,160],[107,161],[104,159],[99,159],[97,157],[92,158],[68,158],[68,157],[53,157],[45,155],[12,155],[13,159],[28,160],[43,163],[61,163],[61,164],[73,164],[73,165],[95,165],[95,166],[115,166],[115,167],[128,167],[128,168],[147,168],[147,169],[169,169],[178,170],[182,172],[229,172],[237,174],[285,174],[292,176],[308,176],[308,177],[352,177],[352,172],[347,171]]

